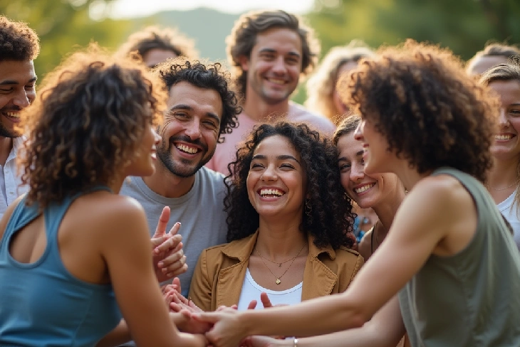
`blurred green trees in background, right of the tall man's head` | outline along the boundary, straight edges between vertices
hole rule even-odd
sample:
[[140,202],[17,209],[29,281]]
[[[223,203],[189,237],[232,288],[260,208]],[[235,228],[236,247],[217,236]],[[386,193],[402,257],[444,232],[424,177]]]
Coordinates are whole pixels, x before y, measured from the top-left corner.
[[307,18],[323,55],[353,38],[375,48],[414,38],[463,59],[487,41],[520,43],[519,0],[315,0]]

